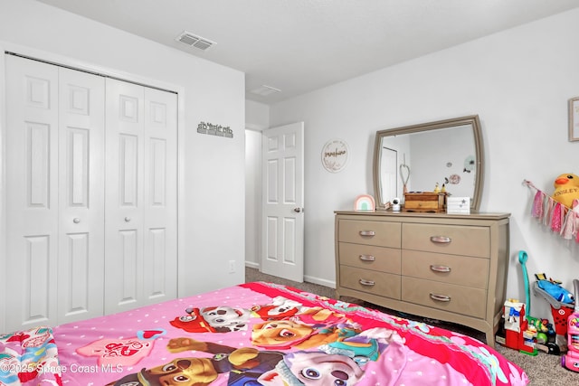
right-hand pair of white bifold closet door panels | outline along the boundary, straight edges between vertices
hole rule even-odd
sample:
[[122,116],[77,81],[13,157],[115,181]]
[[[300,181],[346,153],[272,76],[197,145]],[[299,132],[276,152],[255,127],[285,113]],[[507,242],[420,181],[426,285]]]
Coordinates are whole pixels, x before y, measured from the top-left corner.
[[176,94],[107,79],[105,313],[176,297]]

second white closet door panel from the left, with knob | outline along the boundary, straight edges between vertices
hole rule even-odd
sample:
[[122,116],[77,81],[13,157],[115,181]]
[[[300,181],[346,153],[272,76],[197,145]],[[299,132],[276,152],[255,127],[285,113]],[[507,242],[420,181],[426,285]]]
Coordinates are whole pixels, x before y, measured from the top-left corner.
[[60,69],[59,323],[104,310],[104,86]]

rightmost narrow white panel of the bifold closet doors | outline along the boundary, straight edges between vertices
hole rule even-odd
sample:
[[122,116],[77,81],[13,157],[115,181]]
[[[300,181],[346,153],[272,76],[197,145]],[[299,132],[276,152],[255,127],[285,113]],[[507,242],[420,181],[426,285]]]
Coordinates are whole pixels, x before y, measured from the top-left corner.
[[147,303],[177,291],[177,97],[145,88],[145,265]]

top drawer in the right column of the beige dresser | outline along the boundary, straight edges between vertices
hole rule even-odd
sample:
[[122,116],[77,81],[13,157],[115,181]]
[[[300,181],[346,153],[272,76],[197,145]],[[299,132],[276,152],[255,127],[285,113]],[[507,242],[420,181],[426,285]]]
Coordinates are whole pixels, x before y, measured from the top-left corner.
[[402,248],[489,259],[490,231],[478,226],[406,223]]

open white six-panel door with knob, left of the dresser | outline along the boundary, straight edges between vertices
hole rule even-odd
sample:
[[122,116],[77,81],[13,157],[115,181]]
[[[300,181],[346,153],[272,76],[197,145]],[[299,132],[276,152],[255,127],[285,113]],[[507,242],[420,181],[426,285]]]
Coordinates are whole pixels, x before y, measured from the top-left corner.
[[303,122],[263,131],[261,271],[303,281]]

